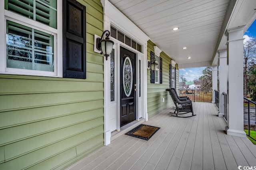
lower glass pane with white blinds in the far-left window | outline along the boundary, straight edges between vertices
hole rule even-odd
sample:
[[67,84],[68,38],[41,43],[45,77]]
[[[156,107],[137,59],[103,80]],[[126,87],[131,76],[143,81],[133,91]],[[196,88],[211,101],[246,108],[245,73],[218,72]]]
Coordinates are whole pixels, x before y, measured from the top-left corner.
[[7,20],[6,66],[53,72],[53,40],[50,34]]

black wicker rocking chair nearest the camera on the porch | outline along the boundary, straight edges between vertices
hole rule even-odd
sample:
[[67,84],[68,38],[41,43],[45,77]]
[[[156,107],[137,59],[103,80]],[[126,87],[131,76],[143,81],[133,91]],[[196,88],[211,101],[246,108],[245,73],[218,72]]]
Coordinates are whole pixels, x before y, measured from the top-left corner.
[[171,116],[175,116],[175,117],[182,117],[182,116],[178,116],[178,115],[182,115],[182,114],[186,114],[186,113],[192,113],[191,116],[186,116],[186,117],[192,117],[192,116],[196,116],[194,115],[194,111],[193,111],[193,107],[192,107],[192,101],[191,100],[185,100],[185,101],[180,101],[175,93],[174,89],[166,89],[166,91],[169,91],[172,100],[175,104],[175,111],[174,113],[171,114],[175,114],[175,115],[171,115]]

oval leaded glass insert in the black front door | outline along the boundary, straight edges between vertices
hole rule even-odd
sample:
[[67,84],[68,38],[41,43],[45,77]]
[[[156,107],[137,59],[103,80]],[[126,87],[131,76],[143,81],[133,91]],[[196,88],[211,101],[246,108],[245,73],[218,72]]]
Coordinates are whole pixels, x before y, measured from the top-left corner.
[[124,60],[123,88],[125,95],[129,97],[132,92],[132,63],[129,57]]

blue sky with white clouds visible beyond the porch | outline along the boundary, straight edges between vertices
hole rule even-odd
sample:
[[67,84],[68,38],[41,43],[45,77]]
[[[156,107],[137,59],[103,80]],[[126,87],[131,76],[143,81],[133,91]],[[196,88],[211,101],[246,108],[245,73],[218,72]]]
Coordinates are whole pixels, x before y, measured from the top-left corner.
[[[256,37],[256,20],[252,23],[252,25],[244,33],[244,38],[245,38],[244,42],[246,40],[249,40],[252,37]],[[186,68],[186,69],[180,69],[179,71],[180,71],[180,75],[183,75],[187,81],[193,81],[194,79],[198,79],[202,75],[202,71],[205,68],[206,67]]]

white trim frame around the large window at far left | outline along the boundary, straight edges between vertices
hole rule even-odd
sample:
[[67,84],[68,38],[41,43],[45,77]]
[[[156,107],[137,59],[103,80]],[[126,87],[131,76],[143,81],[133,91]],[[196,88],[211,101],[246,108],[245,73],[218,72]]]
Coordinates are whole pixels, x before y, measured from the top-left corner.
[[[4,51],[0,55],[0,74],[15,74],[15,75],[38,75],[46,77],[62,77],[62,1],[57,0],[57,28],[46,26],[34,20],[30,20],[24,16],[15,14],[4,9],[4,1],[0,1],[0,22],[4,23],[0,26],[0,51]],[[18,18],[18,20],[17,20]],[[6,67],[6,20],[53,34],[54,36],[54,72],[38,71],[28,69],[15,69]],[[41,29],[44,28],[44,29]],[[59,35],[59,36],[58,36]],[[3,41],[4,40],[4,41]]]

